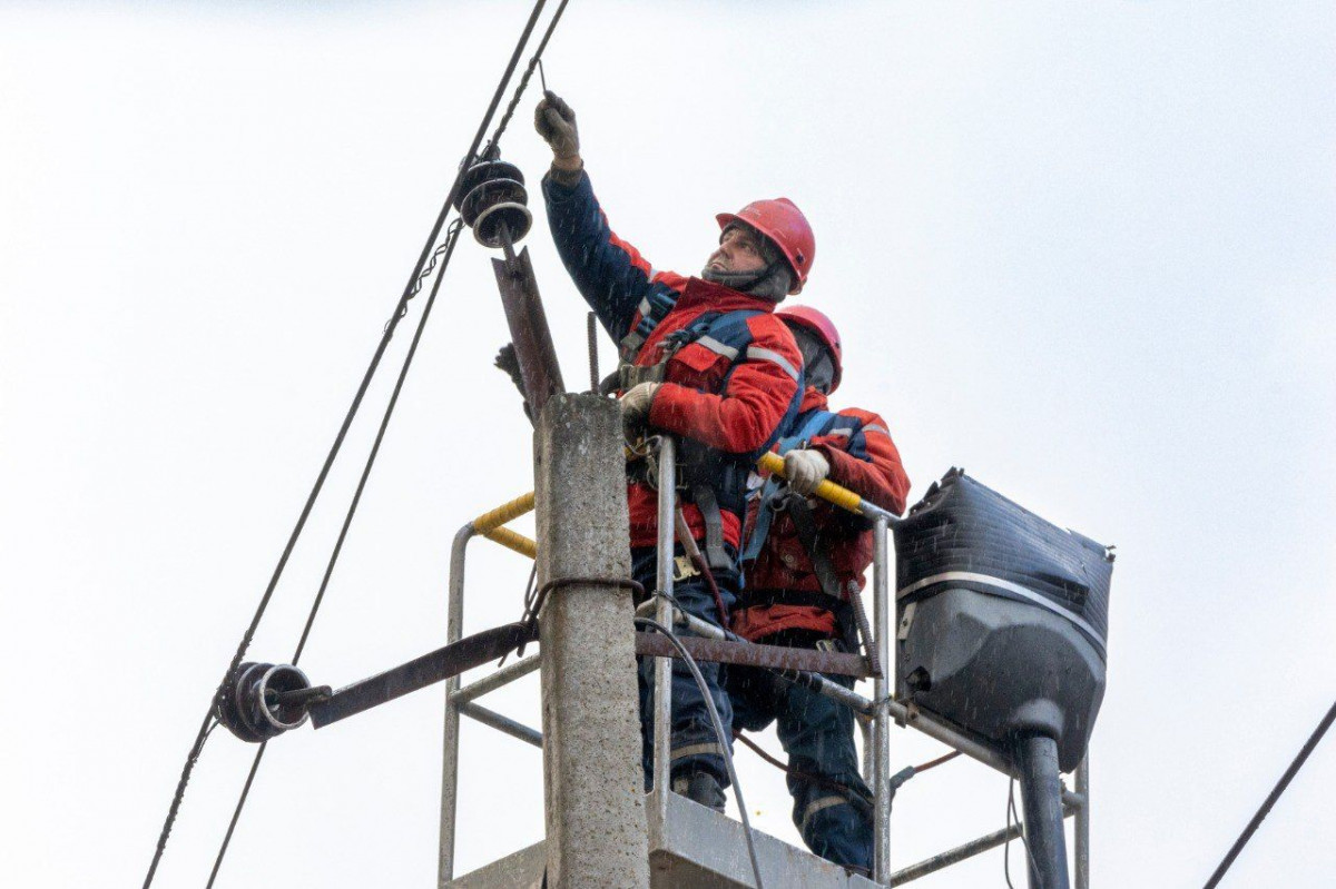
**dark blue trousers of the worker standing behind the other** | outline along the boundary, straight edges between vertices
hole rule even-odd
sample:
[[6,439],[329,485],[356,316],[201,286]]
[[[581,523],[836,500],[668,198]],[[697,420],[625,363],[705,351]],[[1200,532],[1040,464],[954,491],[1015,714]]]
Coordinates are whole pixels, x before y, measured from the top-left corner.
[[[854,687],[852,677],[826,678]],[[756,667],[729,667],[728,691],[733,725],[760,731],[775,722],[790,769],[818,778],[788,776],[794,825],[807,848],[827,861],[871,872],[871,792],[858,773],[854,711]]]

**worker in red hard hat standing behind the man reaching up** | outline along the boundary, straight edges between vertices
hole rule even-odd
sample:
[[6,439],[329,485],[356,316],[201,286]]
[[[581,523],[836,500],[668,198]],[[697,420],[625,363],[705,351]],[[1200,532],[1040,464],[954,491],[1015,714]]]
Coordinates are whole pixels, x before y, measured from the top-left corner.
[[[776,312],[803,352],[807,388],[799,414],[778,443],[788,482],[754,487],[744,553],[747,587],[733,611],[733,631],[754,642],[858,650],[854,609],[872,562],[866,519],[808,498],[830,479],[864,499],[902,513],[910,490],[899,451],[876,414],[827,408],[839,386],[842,347],[831,320],[807,306]],[[855,591],[851,597],[850,590]],[[852,687],[851,677],[828,677]],[[859,777],[854,713],[808,689],[758,669],[732,667],[733,725],[759,731],[778,721],[788,753],[794,824],[816,854],[870,873],[871,793]]]

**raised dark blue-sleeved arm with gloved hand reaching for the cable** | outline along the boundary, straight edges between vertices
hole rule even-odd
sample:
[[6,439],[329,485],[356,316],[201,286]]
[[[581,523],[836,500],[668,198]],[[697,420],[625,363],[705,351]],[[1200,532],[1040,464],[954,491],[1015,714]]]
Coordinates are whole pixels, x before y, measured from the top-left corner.
[[553,155],[552,170],[542,179],[542,196],[557,254],[604,328],[620,340],[655,302],[675,300],[685,279],[656,272],[608,226],[584,172],[570,105],[548,92],[534,112],[534,128]]

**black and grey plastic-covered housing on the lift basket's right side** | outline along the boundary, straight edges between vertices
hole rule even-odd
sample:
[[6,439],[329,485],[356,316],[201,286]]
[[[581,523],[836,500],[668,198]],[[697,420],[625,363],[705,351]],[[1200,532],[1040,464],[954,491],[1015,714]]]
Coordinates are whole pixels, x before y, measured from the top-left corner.
[[896,695],[1015,750],[1085,756],[1113,554],[953,469],[895,527]]

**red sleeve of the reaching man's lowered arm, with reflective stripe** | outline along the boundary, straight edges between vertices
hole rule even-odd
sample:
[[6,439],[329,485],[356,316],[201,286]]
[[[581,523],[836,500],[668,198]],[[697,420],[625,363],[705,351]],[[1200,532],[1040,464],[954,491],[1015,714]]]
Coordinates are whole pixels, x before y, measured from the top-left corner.
[[664,383],[649,424],[731,454],[767,447],[798,399],[803,366],[794,335],[774,315],[748,319],[752,342],[717,395]]

